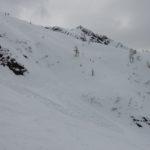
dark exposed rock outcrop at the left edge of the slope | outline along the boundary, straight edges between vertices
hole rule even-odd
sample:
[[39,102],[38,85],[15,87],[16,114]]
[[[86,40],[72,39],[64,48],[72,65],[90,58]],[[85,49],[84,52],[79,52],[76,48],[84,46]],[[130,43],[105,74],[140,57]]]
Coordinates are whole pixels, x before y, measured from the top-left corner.
[[12,58],[8,49],[0,46],[0,65],[8,67],[15,75],[24,75],[27,69]]

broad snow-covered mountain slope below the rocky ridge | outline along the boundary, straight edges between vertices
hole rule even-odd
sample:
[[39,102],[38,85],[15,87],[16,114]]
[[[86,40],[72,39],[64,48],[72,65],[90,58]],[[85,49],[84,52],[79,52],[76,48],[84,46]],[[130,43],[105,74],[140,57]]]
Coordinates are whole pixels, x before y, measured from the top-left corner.
[[0,15],[0,149],[148,150],[150,52],[49,29]]

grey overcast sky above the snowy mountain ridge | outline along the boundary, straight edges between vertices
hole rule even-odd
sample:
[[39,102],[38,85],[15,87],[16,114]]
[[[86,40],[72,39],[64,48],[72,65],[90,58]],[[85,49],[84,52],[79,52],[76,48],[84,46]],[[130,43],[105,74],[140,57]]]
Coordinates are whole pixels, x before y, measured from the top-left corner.
[[83,25],[130,47],[150,49],[150,0],[0,0],[0,11],[39,25]]

